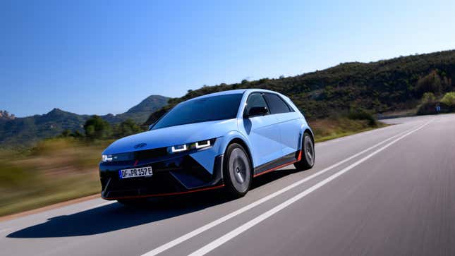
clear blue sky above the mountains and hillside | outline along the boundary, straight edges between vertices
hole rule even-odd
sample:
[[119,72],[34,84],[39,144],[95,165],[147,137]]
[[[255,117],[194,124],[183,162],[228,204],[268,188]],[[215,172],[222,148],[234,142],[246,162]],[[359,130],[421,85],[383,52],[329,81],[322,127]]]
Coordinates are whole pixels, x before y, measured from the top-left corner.
[[148,95],[455,49],[454,1],[0,1],[0,109]]

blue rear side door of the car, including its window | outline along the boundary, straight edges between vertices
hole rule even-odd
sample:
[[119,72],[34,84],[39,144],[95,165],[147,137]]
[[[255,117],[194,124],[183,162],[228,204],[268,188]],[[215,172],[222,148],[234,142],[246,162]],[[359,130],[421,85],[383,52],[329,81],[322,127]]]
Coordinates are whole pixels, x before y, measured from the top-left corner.
[[264,97],[270,108],[271,116],[277,118],[283,157],[291,156],[300,148],[301,116],[279,95],[266,92]]

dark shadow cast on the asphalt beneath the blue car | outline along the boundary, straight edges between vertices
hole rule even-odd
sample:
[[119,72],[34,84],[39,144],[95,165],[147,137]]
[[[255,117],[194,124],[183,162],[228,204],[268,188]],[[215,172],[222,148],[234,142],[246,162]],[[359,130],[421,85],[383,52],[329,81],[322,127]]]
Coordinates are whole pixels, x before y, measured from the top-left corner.
[[[294,172],[296,172],[295,169],[280,170],[259,176],[254,179],[252,190]],[[154,198],[141,207],[125,207],[119,203],[113,203],[75,214],[53,217],[42,224],[23,228],[8,234],[6,237],[90,236],[198,212],[207,207],[224,204],[230,200],[225,196],[223,190],[212,190],[180,195],[178,197]]]

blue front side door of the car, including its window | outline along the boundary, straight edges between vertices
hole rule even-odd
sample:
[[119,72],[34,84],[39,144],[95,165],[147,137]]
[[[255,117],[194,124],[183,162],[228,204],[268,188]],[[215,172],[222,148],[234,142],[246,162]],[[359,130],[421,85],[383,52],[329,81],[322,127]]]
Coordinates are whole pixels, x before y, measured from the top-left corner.
[[[255,106],[268,109],[263,93],[253,92],[248,96],[244,113],[248,114],[248,111]],[[281,138],[277,118],[270,115],[268,110],[267,114],[263,116],[244,117],[241,121],[241,128],[253,147],[251,152],[255,167],[281,157]]]

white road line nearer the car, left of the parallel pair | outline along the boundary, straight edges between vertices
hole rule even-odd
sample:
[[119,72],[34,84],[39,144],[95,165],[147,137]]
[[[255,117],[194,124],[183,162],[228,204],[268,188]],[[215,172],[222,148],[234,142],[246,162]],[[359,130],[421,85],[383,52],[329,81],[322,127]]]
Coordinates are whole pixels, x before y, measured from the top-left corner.
[[216,220],[210,222],[209,224],[205,224],[204,226],[201,226],[200,228],[197,228],[194,231],[191,231],[189,233],[186,233],[183,236],[180,236],[180,237],[178,237],[178,238],[176,238],[174,240],[171,240],[168,243],[165,243],[164,245],[160,245],[159,247],[154,248],[150,252],[146,252],[142,256],[157,255],[157,254],[159,254],[161,252],[164,252],[165,250],[168,250],[169,248],[173,248],[174,246],[178,245],[179,243],[183,243],[184,241],[186,241],[186,240],[188,240],[190,238],[193,238],[194,236],[198,236],[200,233],[202,233],[204,231],[207,231],[208,229],[210,229],[210,228],[212,228],[214,226],[222,224],[224,221],[232,219],[233,217],[236,217],[238,214],[242,214],[243,212],[246,212],[249,209],[251,209],[253,207],[256,207],[257,205],[262,204],[263,202],[267,202],[268,200],[271,200],[273,197],[277,197],[278,195],[281,195],[282,193],[285,193],[286,191],[291,190],[292,188],[296,188],[296,186],[301,185],[302,183],[305,183],[306,181],[310,181],[311,179],[316,178],[317,176],[320,176],[323,173],[326,173],[327,171],[330,171],[331,169],[334,169],[336,166],[344,164],[344,163],[346,163],[346,161],[350,161],[351,159],[358,157],[360,154],[368,152],[368,151],[372,150],[373,148],[375,148],[375,147],[377,147],[379,145],[382,145],[382,144],[384,144],[385,142],[387,142],[389,140],[393,140],[394,138],[398,137],[399,135],[402,135],[404,133],[408,133],[410,130],[413,130],[413,129],[414,128],[406,130],[404,132],[401,132],[401,133],[399,133],[397,135],[392,136],[391,138],[388,138],[386,140],[383,140],[382,142],[377,143],[376,145],[368,147],[367,149],[362,150],[361,152],[358,152],[357,154],[353,154],[351,157],[348,157],[348,158],[346,158],[346,159],[344,159],[342,161],[339,161],[336,164],[333,164],[332,166],[329,166],[329,167],[327,167],[325,169],[322,169],[322,171],[319,171],[319,172],[314,173],[314,174],[312,174],[312,175],[310,175],[310,176],[308,176],[306,178],[303,178],[300,181],[297,181],[296,183],[288,185],[285,188],[281,188],[281,190],[278,190],[275,193],[267,195],[266,197],[262,197],[260,200],[257,200],[255,202],[251,203],[250,205],[246,205],[246,206],[244,206],[244,207],[242,207],[240,209],[237,209],[235,212],[231,212],[230,214],[227,214],[224,217],[216,219]]

